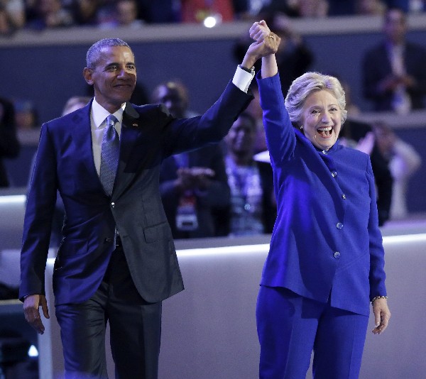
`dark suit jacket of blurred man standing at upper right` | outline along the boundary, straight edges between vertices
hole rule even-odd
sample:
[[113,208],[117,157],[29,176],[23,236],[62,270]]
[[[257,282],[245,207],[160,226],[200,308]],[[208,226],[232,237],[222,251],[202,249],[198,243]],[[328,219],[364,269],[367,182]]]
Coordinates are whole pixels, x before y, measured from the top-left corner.
[[[404,51],[405,69],[414,77],[417,84],[408,89],[413,109],[425,108],[426,95],[426,49],[420,45],[407,42]],[[375,111],[391,111],[393,92],[378,92],[378,83],[391,75],[391,62],[385,43],[368,50],[362,66],[364,96],[374,103]]]

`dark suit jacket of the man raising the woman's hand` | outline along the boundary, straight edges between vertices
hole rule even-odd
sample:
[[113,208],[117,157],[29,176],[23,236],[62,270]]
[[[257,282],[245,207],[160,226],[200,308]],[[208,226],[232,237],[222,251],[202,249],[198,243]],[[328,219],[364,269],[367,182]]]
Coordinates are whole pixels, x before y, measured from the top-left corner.
[[99,287],[118,229],[133,282],[147,302],[183,289],[160,199],[163,159],[223,138],[251,96],[229,84],[203,115],[173,119],[164,106],[126,104],[120,161],[111,198],[94,167],[91,103],[43,124],[23,228],[19,296],[45,293],[44,269],[59,189],[64,239],[55,260],[55,303],[79,303]]

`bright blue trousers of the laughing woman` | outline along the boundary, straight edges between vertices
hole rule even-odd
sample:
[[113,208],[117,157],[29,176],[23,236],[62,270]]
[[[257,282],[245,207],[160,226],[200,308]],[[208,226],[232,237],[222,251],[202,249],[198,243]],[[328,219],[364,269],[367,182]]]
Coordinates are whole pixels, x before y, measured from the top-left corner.
[[368,317],[261,286],[256,309],[259,378],[305,379],[314,351],[315,379],[356,379]]

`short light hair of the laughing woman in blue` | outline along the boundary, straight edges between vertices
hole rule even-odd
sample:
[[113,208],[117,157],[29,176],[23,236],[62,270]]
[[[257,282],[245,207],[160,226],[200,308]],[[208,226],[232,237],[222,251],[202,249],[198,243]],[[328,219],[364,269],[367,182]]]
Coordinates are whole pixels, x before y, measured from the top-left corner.
[[293,80],[285,97],[285,109],[288,111],[290,121],[300,126],[302,108],[306,98],[315,91],[326,89],[337,99],[337,104],[342,111],[342,125],[348,116],[346,99],[342,84],[336,77],[320,74],[320,72],[306,72]]

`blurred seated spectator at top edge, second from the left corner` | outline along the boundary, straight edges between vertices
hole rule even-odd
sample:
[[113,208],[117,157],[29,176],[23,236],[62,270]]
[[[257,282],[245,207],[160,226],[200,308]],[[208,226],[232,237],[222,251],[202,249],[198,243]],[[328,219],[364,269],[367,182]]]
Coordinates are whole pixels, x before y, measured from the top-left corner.
[[30,14],[26,26],[36,30],[61,28],[74,24],[72,13],[62,8],[60,0],[35,0]]

